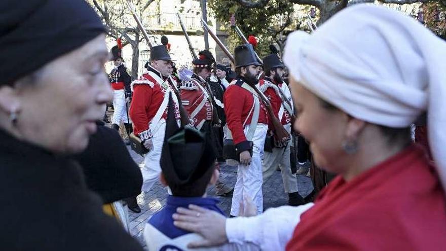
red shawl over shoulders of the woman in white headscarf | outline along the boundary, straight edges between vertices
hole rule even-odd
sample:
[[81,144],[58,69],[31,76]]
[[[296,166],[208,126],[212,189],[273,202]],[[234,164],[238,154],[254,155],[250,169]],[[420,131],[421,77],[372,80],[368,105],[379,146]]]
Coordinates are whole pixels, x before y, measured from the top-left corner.
[[349,182],[334,178],[286,250],[444,250],[446,199],[425,156],[410,146]]

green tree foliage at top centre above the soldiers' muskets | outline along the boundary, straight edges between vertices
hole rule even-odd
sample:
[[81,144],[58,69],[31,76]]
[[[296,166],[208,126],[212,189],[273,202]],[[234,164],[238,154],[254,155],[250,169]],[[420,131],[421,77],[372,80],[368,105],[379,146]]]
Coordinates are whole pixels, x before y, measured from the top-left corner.
[[[269,45],[274,43],[280,31],[285,27],[286,20],[293,14],[293,4],[287,0],[271,0],[264,8],[248,9],[242,7],[234,0],[209,0],[209,14],[213,15],[229,32],[227,40],[228,49],[233,51],[237,45],[242,44],[237,34],[230,27],[230,18],[234,14],[237,26],[245,37],[254,35],[257,39],[256,52],[260,57],[270,53]],[[296,22],[291,21],[287,28],[295,27]]]

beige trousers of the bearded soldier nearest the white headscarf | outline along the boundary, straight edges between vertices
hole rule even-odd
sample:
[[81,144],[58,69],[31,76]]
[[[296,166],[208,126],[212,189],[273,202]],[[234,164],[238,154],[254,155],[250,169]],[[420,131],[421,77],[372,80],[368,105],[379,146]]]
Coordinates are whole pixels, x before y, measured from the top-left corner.
[[[288,133],[291,133],[291,125],[284,125]],[[280,167],[282,173],[283,188],[285,193],[298,192],[298,179],[296,174],[291,173],[291,163],[289,159],[291,139],[288,141],[286,148],[273,148],[273,152],[264,153],[263,161],[263,180],[267,180],[276,171],[277,166]]]

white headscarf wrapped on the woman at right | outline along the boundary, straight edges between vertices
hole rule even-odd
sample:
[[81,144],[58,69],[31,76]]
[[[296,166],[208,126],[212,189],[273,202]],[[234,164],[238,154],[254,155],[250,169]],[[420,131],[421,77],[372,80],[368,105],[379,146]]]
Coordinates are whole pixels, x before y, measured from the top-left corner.
[[428,111],[429,144],[446,187],[444,41],[397,11],[362,4],[311,35],[288,35],[284,62],[295,80],[355,118],[401,128]]

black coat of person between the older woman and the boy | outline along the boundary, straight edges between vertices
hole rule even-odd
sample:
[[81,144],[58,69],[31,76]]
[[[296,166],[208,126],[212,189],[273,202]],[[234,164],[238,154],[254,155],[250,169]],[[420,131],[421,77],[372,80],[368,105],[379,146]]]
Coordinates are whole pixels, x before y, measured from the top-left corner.
[[87,149],[75,156],[85,174],[87,187],[110,203],[141,193],[142,174],[119,133],[98,126]]

